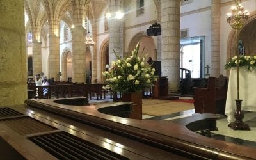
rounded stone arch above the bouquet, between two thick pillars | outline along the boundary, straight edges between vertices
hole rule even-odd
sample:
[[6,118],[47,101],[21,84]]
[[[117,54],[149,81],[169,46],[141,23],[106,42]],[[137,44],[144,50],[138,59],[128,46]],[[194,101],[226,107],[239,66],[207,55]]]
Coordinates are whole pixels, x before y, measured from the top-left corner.
[[[142,41],[147,40],[147,44],[149,44],[149,46],[152,47],[152,51],[147,51],[148,47],[145,46],[145,44],[143,44]],[[156,60],[157,55],[156,55],[156,44],[154,43],[154,40],[152,38],[152,36],[147,36],[145,32],[141,31],[139,33],[137,33],[136,35],[134,35],[128,45],[128,52],[132,52],[134,50],[134,48],[136,47],[136,45],[138,44],[138,42],[141,41],[141,47],[140,47],[140,51],[139,51],[139,56],[143,56],[141,53],[141,51],[143,50],[143,47],[145,46],[145,51],[144,54],[148,54],[148,57],[151,57],[153,60]],[[127,55],[126,53],[126,55]],[[126,56],[124,55],[124,56]],[[147,58],[148,58],[147,57]]]

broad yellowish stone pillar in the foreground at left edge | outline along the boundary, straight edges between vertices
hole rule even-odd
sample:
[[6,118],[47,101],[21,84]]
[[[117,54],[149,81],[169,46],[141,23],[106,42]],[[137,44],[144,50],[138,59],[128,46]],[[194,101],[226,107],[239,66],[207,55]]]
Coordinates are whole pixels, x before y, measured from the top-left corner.
[[27,99],[24,2],[0,1],[0,106]]

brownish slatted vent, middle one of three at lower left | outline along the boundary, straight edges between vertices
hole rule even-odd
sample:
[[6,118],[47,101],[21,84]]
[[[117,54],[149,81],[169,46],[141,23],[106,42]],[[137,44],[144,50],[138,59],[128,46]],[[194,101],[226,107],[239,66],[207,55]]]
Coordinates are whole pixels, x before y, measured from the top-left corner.
[[0,122],[10,127],[13,131],[18,132],[22,136],[56,130],[56,128],[39,122],[38,120],[35,120],[28,116],[12,119],[3,119],[0,120]]

